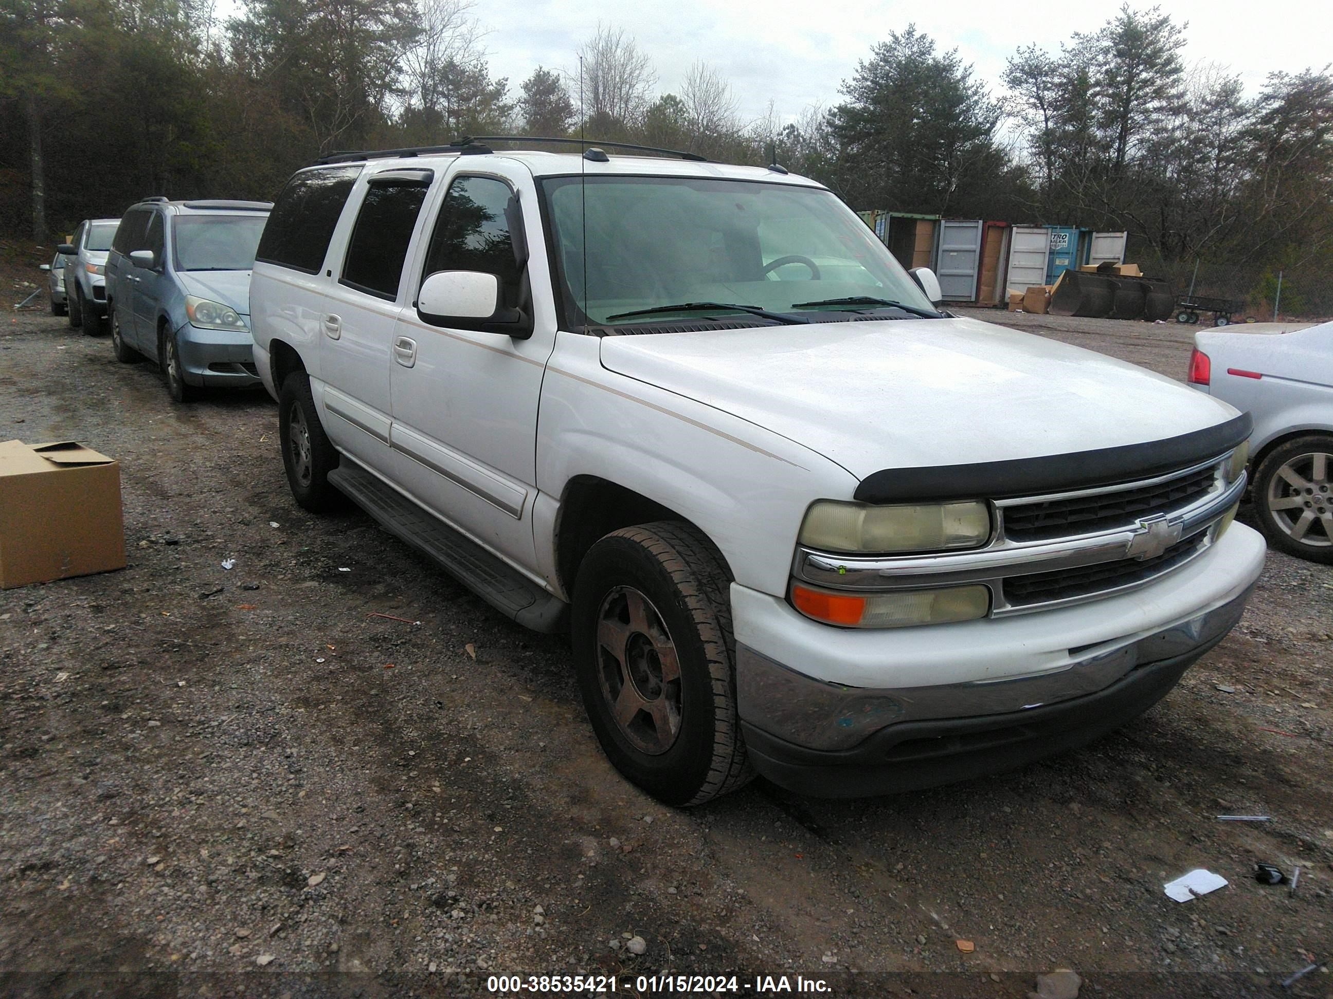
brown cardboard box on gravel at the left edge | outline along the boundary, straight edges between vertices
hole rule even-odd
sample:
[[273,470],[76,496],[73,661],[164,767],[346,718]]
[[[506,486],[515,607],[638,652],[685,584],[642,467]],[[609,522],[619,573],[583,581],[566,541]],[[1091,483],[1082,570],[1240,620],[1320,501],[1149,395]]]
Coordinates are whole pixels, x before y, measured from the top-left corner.
[[125,567],[120,465],[73,441],[0,442],[0,589]]

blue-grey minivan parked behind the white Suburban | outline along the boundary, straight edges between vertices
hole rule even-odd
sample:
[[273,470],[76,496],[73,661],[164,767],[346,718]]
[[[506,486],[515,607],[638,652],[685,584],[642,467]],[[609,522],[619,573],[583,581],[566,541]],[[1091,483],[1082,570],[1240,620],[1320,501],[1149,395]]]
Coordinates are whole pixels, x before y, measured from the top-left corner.
[[107,257],[116,360],[156,361],[177,402],[201,386],[259,385],[249,278],[272,206],[164,197],[131,206]]

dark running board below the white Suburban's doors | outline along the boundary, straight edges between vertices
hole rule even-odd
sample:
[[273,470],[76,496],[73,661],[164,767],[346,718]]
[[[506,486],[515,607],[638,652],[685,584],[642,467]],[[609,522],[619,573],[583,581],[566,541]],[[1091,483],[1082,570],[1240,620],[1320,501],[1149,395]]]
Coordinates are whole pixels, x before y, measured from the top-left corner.
[[396,538],[424,551],[481,599],[535,631],[560,631],[569,605],[381,482],[345,454],[329,482]]

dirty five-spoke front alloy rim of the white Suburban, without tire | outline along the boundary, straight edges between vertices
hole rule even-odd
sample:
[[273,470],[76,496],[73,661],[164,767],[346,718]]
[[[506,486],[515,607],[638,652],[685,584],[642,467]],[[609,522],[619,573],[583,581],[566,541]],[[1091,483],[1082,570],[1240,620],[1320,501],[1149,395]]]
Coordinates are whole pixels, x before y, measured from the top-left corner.
[[661,755],[680,735],[680,659],[653,602],[616,586],[597,617],[597,678],[611,715],[631,745]]

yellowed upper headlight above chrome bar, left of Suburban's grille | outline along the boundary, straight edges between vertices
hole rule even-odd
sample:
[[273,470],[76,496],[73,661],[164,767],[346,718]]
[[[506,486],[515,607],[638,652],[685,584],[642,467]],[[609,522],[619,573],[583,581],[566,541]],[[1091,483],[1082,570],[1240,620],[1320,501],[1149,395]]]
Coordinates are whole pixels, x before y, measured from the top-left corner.
[[866,506],[836,500],[810,503],[801,543],[821,551],[936,551],[980,547],[990,538],[985,503]]

